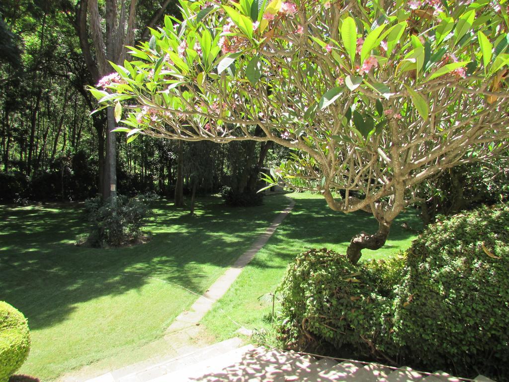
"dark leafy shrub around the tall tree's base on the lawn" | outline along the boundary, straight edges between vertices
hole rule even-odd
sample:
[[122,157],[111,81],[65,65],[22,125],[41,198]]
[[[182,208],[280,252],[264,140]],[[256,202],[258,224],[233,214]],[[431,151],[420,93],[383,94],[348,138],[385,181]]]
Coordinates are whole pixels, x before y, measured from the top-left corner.
[[85,210],[92,230],[87,239],[91,247],[120,247],[136,241],[142,227],[152,215],[151,202],[155,194],[138,195],[133,198],[118,195],[106,201],[100,197],[88,199]]

